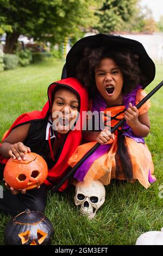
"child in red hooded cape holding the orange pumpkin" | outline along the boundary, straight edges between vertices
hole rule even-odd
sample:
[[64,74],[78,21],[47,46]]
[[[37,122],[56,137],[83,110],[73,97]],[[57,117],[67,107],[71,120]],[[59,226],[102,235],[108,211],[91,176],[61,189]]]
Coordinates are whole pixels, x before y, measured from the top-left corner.
[[[39,190],[18,193],[5,184],[9,190],[0,199],[0,210],[15,215],[27,208],[45,209],[47,186],[52,188],[68,172],[67,161],[82,141],[82,113],[87,106],[87,89],[71,77],[48,87],[48,101],[42,111],[25,113],[15,120],[0,144],[1,176],[9,157],[25,161],[30,151],[46,160],[48,176]],[[60,191],[66,187],[67,182]]]

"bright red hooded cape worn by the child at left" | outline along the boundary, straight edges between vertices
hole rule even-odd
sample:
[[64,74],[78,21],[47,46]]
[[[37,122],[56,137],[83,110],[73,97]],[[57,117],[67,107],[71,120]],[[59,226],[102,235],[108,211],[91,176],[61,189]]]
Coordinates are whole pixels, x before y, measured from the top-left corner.
[[[67,133],[65,143],[60,151],[59,156],[57,157],[57,160],[54,162],[54,166],[48,170],[48,177],[45,180],[45,184],[47,186],[53,187],[57,182],[64,176],[66,172],[68,172],[68,164],[67,161],[70,158],[70,156],[73,154],[74,150],[78,147],[78,145],[82,141],[82,127],[84,125],[84,115],[82,119],[82,113],[83,111],[87,111],[88,107],[88,95],[87,95],[87,89],[82,86],[82,84],[77,80],[77,78],[66,78],[62,79],[60,81],[52,83],[48,87],[48,101],[46,102],[45,106],[42,108],[42,111],[32,111],[29,113],[24,113],[18,117],[12,126],[10,127],[9,131],[3,139],[7,138],[10,132],[15,129],[16,127],[20,125],[24,125],[27,123],[31,123],[37,120],[48,120],[49,115],[51,114],[51,108],[52,108],[52,93],[56,86],[61,87],[68,87],[73,92],[75,92],[78,95],[78,98],[80,99],[79,102],[79,112],[80,116],[77,119],[76,126],[73,130],[70,130]],[[78,129],[76,129],[76,127]],[[1,144],[0,144],[1,147]],[[8,159],[5,159],[0,155],[0,163],[7,163]],[[63,191],[67,187],[67,182],[63,184],[59,191]]]

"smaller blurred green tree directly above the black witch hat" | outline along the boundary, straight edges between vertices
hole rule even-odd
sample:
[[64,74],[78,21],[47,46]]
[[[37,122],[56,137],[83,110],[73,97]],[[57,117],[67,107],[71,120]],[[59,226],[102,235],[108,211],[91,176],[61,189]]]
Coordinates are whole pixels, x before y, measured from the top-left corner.
[[138,0],[105,0],[102,8],[96,11],[100,22],[95,28],[100,33],[122,31],[134,15]]

